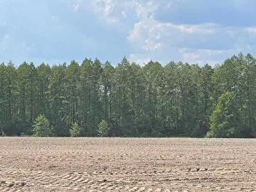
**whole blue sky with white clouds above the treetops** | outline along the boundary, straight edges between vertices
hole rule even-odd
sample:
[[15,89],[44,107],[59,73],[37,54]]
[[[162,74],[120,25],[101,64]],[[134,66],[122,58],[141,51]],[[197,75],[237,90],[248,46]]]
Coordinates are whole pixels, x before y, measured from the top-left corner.
[[0,0],[0,61],[216,65],[256,56],[255,0]]

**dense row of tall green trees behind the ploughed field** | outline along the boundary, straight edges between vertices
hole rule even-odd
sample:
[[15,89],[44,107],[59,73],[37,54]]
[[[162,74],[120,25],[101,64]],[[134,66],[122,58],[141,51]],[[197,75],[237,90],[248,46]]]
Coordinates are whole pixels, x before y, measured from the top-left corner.
[[[0,135],[256,136],[256,60],[0,65]],[[41,122],[40,122],[41,121]],[[102,128],[103,126],[103,128]]]

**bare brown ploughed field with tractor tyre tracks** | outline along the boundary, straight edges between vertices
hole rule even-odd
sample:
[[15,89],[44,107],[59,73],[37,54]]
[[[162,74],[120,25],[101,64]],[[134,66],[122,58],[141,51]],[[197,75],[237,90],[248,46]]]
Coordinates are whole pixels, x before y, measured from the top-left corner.
[[253,191],[256,140],[0,138],[0,191]]

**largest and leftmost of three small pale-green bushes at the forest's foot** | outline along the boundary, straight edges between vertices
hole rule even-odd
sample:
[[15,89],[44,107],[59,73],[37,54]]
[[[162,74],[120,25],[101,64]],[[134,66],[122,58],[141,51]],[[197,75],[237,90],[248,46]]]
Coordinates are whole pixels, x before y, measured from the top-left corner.
[[54,128],[44,115],[38,115],[33,122],[33,136],[50,137],[54,136]]

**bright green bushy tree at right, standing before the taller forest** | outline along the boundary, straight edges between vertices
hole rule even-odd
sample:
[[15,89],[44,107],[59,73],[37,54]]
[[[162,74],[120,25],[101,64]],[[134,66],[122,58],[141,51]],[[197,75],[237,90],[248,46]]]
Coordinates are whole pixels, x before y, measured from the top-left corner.
[[225,92],[218,99],[216,108],[210,116],[208,138],[233,138],[239,136],[241,121],[235,106],[236,94]]

